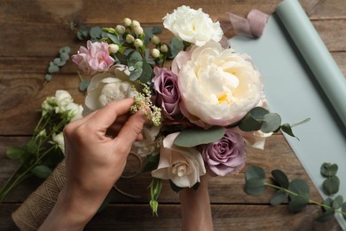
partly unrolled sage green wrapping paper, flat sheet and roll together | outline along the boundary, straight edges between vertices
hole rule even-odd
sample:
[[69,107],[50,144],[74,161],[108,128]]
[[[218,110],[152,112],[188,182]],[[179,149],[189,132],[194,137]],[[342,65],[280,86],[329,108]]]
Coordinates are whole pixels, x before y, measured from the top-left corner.
[[[263,36],[235,36],[229,43],[236,52],[252,57],[263,76],[269,107],[279,113],[283,123],[311,117],[309,123],[293,128],[300,140],[285,137],[324,198],[327,196],[321,186],[325,178],[319,173],[320,166],[337,163],[341,181],[337,195],[345,197],[345,77],[302,6],[296,0],[283,1],[270,16]],[[342,216],[337,214],[335,218],[346,230]]]

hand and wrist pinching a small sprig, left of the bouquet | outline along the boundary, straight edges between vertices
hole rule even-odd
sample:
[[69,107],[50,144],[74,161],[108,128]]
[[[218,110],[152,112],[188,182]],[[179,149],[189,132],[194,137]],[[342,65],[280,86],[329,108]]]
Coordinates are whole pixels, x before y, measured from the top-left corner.
[[132,143],[141,139],[145,116],[138,111],[127,117],[132,104],[133,99],[110,102],[67,124],[67,183],[40,230],[82,230],[98,211],[120,178]]

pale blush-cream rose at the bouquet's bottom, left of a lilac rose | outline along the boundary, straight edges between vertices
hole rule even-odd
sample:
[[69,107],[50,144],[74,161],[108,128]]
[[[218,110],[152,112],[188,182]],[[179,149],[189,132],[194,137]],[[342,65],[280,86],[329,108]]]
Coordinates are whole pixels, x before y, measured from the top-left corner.
[[177,147],[173,144],[178,132],[163,139],[160,163],[152,176],[170,179],[177,187],[193,187],[206,174],[203,158],[196,148]]

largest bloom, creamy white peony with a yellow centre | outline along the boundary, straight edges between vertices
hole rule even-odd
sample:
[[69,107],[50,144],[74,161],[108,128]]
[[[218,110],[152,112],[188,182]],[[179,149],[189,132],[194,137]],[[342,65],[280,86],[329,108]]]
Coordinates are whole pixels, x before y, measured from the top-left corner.
[[172,66],[178,72],[182,113],[197,125],[236,123],[261,100],[263,83],[256,68],[218,43],[193,46],[178,55]]

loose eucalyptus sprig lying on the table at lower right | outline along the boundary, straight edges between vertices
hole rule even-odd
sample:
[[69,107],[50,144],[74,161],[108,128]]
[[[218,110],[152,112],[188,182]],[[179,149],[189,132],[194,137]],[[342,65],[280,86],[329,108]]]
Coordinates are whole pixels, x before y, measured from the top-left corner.
[[[336,166],[336,167],[335,167]],[[321,167],[321,174],[329,177],[335,177],[336,164],[324,163]],[[300,212],[307,206],[308,203],[319,205],[323,213],[316,219],[319,222],[330,220],[334,217],[335,212],[342,214],[346,219],[346,202],[343,202],[342,195],[333,198],[327,198],[323,203],[318,203],[310,198],[310,189],[308,184],[303,179],[289,180],[287,175],[280,170],[271,171],[271,178],[274,183],[266,181],[265,172],[261,167],[250,166],[248,171],[245,172],[245,191],[248,195],[261,195],[265,187],[272,187],[277,189],[276,193],[271,196],[270,203],[272,206],[279,205],[280,203],[288,202],[288,210],[292,212]],[[326,181],[325,181],[326,182]],[[339,188],[340,181],[327,181],[324,186],[324,192],[334,193]]]

